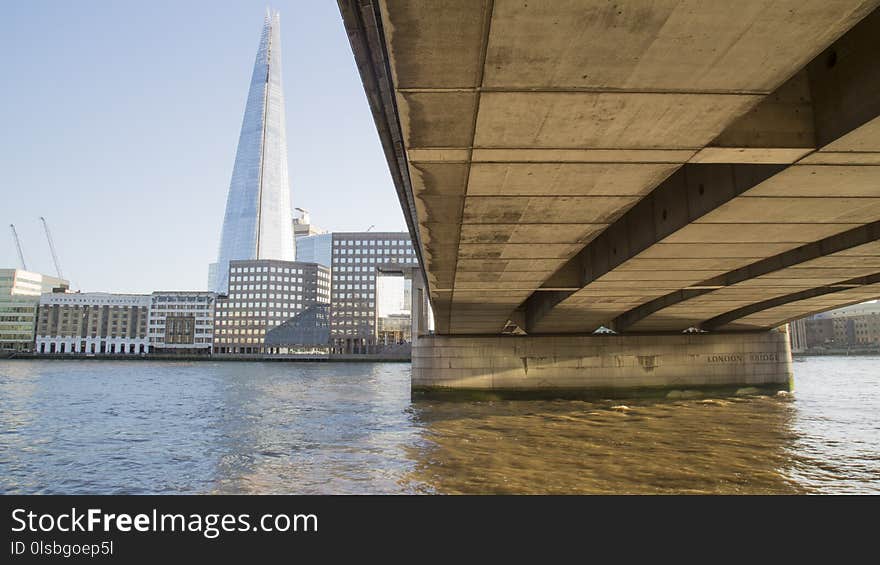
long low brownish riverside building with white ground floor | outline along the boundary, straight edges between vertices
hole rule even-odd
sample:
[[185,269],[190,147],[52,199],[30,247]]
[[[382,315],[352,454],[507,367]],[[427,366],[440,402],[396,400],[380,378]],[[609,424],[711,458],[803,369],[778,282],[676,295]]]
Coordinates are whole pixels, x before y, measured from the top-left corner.
[[37,318],[36,353],[146,354],[149,309],[148,294],[43,294]]

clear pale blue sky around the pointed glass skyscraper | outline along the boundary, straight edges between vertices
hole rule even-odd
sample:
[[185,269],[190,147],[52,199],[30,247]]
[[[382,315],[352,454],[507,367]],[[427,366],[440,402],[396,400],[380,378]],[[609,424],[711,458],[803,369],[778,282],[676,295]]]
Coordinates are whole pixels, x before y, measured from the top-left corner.
[[[202,289],[267,4],[0,2],[0,266],[76,288]],[[275,1],[294,206],[405,230],[336,2]]]

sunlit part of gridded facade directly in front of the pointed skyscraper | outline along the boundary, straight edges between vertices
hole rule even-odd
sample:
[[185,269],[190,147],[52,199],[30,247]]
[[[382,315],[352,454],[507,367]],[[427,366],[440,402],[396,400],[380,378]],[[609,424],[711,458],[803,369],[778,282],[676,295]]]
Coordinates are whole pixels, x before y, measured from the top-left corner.
[[280,353],[266,333],[314,304],[330,302],[330,269],[269,259],[230,261],[226,296],[217,299],[214,352]]

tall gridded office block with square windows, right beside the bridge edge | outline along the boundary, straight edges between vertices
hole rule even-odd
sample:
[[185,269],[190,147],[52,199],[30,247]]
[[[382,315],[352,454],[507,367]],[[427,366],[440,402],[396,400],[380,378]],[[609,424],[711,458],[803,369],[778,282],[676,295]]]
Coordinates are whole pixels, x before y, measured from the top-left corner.
[[369,353],[380,345],[377,277],[416,265],[406,232],[333,234],[330,339],[334,353]]

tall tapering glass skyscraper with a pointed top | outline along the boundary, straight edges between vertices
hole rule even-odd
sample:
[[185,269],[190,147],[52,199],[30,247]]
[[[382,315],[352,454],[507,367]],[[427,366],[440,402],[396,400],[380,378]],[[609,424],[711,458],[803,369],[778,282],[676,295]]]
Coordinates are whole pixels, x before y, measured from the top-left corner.
[[231,260],[296,259],[284,123],[281,17],[267,12],[226,197],[220,251],[208,270],[208,285],[215,292],[227,291]]

